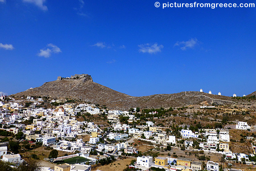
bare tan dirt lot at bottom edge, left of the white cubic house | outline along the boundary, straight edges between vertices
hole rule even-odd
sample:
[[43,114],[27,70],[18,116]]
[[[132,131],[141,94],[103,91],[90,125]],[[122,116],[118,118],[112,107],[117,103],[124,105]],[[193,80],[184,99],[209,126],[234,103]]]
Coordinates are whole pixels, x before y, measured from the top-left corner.
[[[104,165],[104,166],[101,166],[101,165],[98,165],[98,166],[95,166],[93,165],[92,166],[92,170],[103,170],[103,171],[108,171],[108,170],[111,170],[111,171],[122,171],[123,169],[125,169],[127,166],[126,165],[129,165],[131,163],[131,158],[127,158],[127,159],[122,159],[122,160],[117,160],[111,164],[108,164],[108,165]],[[119,163],[119,164],[118,164]]]

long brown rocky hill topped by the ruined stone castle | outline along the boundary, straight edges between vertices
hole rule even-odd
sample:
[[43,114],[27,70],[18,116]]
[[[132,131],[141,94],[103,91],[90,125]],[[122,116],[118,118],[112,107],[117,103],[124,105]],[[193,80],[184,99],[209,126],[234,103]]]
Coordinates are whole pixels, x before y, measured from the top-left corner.
[[13,96],[49,96],[56,99],[80,99],[85,102],[106,105],[109,109],[120,110],[127,110],[131,107],[141,107],[142,109],[182,107],[194,104],[200,105],[202,102],[208,104],[246,102],[238,101],[238,99],[233,99],[232,97],[196,91],[133,97],[93,82],[92,77],[88,74],[75,74],[70,78],[58,77],[56,81],[46,82],[40,87],[28,89]]

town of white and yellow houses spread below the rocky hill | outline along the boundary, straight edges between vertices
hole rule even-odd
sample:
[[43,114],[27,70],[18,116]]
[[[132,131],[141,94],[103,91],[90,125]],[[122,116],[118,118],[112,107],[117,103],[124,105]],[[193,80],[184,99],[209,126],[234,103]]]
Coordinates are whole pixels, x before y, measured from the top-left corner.
[[[195,108],[207,111],[218,107],[190,107]],[[223,127],[224,116],[222,123],[215,122],[214,126],[203,126],[201,116],[200,120],[194,117],[190,125],[177,123],[176,118],[192,117],[178,112],[185,109],[188,107],[133,107],[120,111],[71,99],[14,99],[2,95],[1,160],[14,167],[31,158],[40,160],[42,171],[111,168],[104,170],[103,166],[112,166],[114,170],[244,171],[256,165],[256,134],[252,124],[232,121]],[[218,117],[213,121],[218,121]],[[165,122],[172,124],[166,126]],[[240,134],[238,140],[234,139],[234,131]],[[231,148],[232,143],[248,143],[249,150],[242,153]]]

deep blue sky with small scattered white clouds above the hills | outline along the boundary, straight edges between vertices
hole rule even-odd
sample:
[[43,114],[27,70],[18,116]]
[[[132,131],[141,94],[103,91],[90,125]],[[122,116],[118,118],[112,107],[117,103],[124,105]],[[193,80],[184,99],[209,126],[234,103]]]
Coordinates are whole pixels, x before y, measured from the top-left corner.
[[155,2],[0,0],[0,91],[83,73],[132,96],[256,91],[255,8]]

